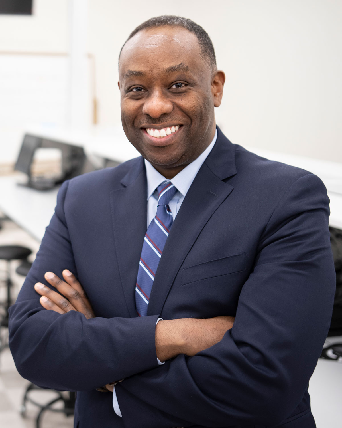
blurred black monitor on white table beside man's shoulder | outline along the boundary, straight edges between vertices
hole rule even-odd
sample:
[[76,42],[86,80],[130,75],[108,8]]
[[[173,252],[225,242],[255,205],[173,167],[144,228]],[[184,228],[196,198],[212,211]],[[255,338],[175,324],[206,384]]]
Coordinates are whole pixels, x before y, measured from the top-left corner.
[[[61,168],[58,174],[49,174],[45,176],[32,175],[32,162],[35,151],[38,148],[53,148],[60,150]],[[76,177],[77,175],[85,172],[85,161],[86,157],[83,147],[37,137],[31,134],[25,134],[14,169],[27,174],[28,181],[25,186],[39,190],[47,190],[55,187],[57,184],[60,184],[65,180]]]

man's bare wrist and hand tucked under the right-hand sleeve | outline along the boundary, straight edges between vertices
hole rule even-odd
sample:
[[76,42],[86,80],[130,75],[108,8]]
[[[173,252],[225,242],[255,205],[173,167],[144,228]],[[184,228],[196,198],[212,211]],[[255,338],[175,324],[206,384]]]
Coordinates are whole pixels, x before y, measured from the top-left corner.
[[160,361],[179,354],[195,355],[220,342],[233,327],[234,317],[208,319],[181,318],[159,321],[156,326],[156,352]]

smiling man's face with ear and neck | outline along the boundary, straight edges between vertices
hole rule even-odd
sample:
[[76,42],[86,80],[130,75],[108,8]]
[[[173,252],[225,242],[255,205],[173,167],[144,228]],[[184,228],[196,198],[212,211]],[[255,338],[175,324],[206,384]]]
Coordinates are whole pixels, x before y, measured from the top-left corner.
[[212,141],[224,74],[212,75],[194,34],[165,26],[140,31],[127,42],[119,78],[128,140],[172,178]]

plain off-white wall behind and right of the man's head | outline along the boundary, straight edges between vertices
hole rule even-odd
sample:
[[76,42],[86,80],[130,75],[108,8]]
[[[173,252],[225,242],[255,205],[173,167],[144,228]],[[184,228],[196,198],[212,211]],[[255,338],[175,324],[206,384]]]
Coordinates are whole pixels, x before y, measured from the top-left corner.
[[117,60],[138,24],[162,14],[202,25],[227,75],[217,122],[233,143],[342,162],[340,0],[89,0],[99,122],[120,122]]

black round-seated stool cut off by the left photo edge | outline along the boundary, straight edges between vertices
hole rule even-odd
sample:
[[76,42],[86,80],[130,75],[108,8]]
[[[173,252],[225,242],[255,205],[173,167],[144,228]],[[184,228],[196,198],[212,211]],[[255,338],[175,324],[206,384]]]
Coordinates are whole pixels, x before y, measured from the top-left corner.
[[[12,289],[12,279],[11,279],[11,262],[12,260],[25,260],[32,253],[32,251],[27,247],[22,247],[21,245],[1,245],[0,246],[0,260],[6,260],[6,288],[7,288],[7,298],[5,302],[0,303],[3,307],[3,316],[0,321],[0,330],[2,327],[8,327],[8,309],[12,304],[11,289]],[[7,341],[0,339],[0,352],[3,348],[6,347]]]

